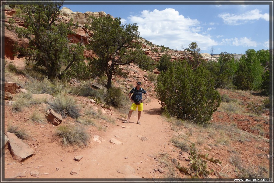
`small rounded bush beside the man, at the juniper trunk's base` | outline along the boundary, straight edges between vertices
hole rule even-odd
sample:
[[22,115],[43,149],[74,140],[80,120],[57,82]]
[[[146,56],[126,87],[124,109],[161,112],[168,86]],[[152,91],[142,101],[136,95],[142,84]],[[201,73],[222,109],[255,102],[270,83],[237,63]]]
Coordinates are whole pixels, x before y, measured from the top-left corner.
[[114,107],[123,107],[126,104],[126,97],[120,88],[110,88],[104,94],[106,104]]

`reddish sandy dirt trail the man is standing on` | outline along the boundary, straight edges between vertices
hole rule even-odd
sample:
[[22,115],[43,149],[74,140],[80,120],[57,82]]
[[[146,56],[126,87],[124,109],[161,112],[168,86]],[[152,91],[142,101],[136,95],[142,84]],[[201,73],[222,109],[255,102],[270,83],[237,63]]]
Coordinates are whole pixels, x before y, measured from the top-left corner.
[[[157,168],[159,162],[148,155],[170,153],[173,148],[168,144],[173,131],[170,130],[170,124],[160,116],[160,104],[155,99],[144,104],[141,125],[137,124],[137,115],[137,111],[132,113],[129,124],[118,120],[115,126],[100,137],[103,138],[100,144],[93,141],[93,146],[70,152],[66,152],[63,147],[44,147],[41,153],[34,154],[23,165],[6,165],[5,178],[12,178],[23,172],[26,174],[24,178],[35,178],[30,176],[32,170],[40,172],[39,178],[127,178],[130,175],[117,172],[124,165],[131,166],[135,170],[133,175],[140,178],[158,178],[154,168]],[[148,140],[142,141],[141,137]],[[92,138],[93,136],[91,141]],[[122,143],[113,144],[109,141],[111,138]],[[83,159],[73,160],[78,155],[83,155]],[[39,165],[43,167],[38,168]],[[79,175],[70,174],[73,168],[80,168]]]

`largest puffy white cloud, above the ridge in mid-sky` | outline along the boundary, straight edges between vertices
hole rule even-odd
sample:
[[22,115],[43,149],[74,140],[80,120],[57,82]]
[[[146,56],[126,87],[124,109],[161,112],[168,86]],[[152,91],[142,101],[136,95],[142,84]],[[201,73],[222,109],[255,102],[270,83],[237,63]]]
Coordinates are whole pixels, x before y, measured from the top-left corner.
[[203,27],[198,20],[184,17],[172,8],[143,10],[141,15],[129,16],[128,20],[137,23],[140,36],[156,45],[177,50],[191,42],[197,42],[202,50],[217,45],[210,35],[199,34]]

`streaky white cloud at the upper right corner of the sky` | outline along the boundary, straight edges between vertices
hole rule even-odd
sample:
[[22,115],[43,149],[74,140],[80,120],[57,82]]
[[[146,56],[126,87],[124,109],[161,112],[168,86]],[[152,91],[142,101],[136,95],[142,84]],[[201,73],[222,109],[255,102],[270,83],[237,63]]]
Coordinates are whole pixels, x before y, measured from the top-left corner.
[[223,19],[224,23],[228,25],[239,25],[243,23],[248,23],[250,21],[263,19],[269,21],[269,14],[261,14],[261,11],[258,9],[253,9],[243,14],[235,15],[230,13],[223,13],[218,15]]

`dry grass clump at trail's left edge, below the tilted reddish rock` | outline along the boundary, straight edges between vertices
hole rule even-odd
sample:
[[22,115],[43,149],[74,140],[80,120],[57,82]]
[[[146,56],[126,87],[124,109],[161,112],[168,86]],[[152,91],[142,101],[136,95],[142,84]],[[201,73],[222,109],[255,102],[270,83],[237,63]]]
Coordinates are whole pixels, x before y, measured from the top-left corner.
[[89,135],[82,126],[61,125],[56,130],[56,135],[62,138],[62,145],[87,145]]

